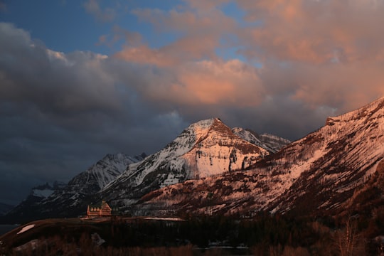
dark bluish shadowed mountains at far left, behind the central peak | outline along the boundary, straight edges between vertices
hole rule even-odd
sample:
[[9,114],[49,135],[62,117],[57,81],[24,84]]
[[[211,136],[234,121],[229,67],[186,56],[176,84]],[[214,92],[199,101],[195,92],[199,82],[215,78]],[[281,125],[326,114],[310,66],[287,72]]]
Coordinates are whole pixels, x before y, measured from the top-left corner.
[[146,155],[127,156],[107,154],[89,169],[73,177],[65,186],[54,187],[48,183],[33,188],[30,196],[8,213],[9,218],[23,216],[65,216],[84,212],[87,198],[99,192],[122,174],[129,164],[142,161]]

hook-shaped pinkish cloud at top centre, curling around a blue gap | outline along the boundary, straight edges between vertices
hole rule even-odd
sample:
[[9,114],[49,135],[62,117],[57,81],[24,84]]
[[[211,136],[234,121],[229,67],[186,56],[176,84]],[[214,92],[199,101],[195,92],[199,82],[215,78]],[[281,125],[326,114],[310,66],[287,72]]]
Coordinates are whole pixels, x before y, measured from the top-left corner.
[[202,4],[195,1],[191,3],[192,6],[182,10],[133,10],[132,14],[142,22],[151,23],[157,33],[171,33],[176,36],[176,40],[160,48],[151,48],[147,43],[132,46],[127,42],[115,56],[134,63],[157,66],[174,66],[188,61],[216,58],[216,48],[225,33],[235,31],[235,21],[225,16],[220,9],[197,9],[193,7]]

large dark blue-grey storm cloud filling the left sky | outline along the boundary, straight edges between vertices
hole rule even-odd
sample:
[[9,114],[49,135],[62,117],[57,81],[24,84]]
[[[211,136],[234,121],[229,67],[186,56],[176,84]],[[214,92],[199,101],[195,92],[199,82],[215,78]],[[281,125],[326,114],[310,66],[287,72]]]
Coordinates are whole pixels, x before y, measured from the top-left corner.
[[9,23],[0,24],[0,34],[0,188],[23,184],[3,193],[8,203],[107,153],[153,153],[186,125],[142,102],[143,73],[132,65],[49,50]]

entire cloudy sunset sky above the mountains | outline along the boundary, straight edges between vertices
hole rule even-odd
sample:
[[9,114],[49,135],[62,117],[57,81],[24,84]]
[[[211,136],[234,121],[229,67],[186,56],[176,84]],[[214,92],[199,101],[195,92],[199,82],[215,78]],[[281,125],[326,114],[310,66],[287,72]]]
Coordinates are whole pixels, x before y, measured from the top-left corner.
[[0,202],[189,124],[291,140],[384,95],[384,0],[0,0]]

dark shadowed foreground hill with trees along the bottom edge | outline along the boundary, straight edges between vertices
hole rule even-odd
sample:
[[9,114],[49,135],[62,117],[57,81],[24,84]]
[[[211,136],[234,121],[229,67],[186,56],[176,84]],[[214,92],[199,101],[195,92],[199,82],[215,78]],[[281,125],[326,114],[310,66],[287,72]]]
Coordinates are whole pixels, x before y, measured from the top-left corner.
[[48,219],[0,236],[0,254],[380,255],[382,220],[364,223],[356,217],[314,220],[267,214],[252,219],[207,215],[185,220]]

